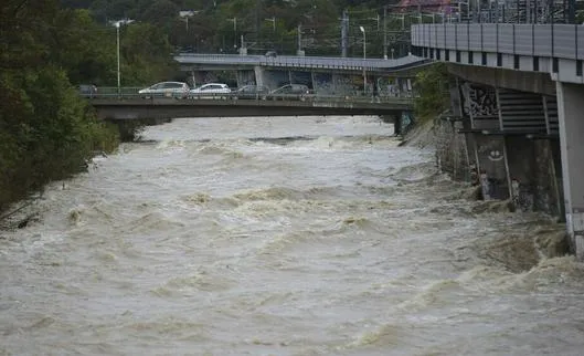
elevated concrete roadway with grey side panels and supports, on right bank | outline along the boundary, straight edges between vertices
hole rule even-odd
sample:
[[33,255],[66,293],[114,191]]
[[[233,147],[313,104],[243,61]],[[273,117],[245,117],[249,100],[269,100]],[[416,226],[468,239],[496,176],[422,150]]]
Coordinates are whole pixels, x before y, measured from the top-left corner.
[[448,64],[484,197],[565,219],[584,260],[584,27],[553,21],[418,24],[413,53]]

